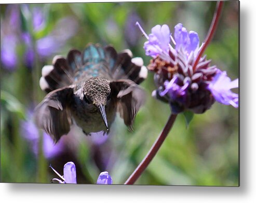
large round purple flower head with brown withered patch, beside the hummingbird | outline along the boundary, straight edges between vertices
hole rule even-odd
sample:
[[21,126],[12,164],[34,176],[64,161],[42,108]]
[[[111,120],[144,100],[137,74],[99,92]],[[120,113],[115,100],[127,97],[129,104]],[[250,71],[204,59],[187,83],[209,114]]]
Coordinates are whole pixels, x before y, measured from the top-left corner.
[[[238,79],[231,82],[206,55],[200,57],[193,69],[199,47],[199,37],[194,31],[188,32],[181,23],[174,27],[174,38],[168,25],[156,25],[147,35],[136,23],[148,41],[144,43],[146,55],[153,59],[147,66],[155,72],[157,86],[152,95],[166,101],[173,114],[184,110],[203,113],[215,100],[224,105],[238,107],[238,94],[231,89],[238,88]],[[171,46],[172,41],[174,47]]]

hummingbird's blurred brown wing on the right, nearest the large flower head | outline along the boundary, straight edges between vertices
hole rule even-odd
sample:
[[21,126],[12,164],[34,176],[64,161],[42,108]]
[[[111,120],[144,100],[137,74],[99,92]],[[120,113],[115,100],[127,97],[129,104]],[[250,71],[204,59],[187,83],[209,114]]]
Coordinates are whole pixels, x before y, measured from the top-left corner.
[[117,80],[110,83],[111,99],[116,99],[117,110],[125,124],[132,129],[134,118],[145,103],[145,92],[131,80]]

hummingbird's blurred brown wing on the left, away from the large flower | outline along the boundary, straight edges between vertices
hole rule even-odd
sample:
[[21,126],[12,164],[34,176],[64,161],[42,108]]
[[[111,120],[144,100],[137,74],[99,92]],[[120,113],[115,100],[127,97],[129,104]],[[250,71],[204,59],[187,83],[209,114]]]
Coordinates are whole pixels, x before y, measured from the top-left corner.
[[50,92],[35,108],[37,126],[58,142],[62,135],[68,134],[72,125],[68,103],[72,100],[73,88],[65,87]]

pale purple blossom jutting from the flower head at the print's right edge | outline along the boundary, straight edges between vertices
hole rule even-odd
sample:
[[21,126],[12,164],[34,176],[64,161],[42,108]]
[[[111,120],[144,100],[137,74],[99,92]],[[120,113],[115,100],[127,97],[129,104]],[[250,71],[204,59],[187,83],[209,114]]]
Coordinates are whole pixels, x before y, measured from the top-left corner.
[[238,88],[238,78],[231,81],[227,77],[226,71],[219,71],[208,86],[208,89],[219,103],[238,108],[238,94],[231,91],[233,88]]

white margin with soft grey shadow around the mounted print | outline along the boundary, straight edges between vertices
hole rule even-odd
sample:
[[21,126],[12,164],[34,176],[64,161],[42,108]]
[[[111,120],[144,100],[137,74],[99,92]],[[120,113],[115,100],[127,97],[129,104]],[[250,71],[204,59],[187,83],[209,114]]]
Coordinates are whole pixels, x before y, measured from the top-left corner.
[[[6,1],[53,3],[70,1]],[[75,1],[86,2],[86,1]],[[91,1],[102,2],[102,1]],[[108,1],[116,2],[116,1]],[[256,199],[254,1],[240,1],[240,187],[0,184],[1,202],[254,202]]]

